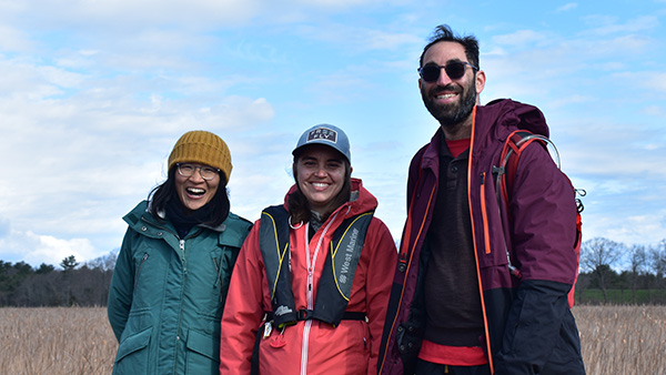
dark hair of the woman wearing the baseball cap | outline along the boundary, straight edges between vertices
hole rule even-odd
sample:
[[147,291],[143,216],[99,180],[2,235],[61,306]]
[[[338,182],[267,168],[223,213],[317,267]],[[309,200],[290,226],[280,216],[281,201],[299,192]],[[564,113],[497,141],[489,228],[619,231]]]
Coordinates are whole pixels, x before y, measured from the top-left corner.
[[[299,155],[294,155],[294,162],[292,164],[292,172],[294,174],[294,181],[296,182],[296,190],[293,193],[289,194],[289,196],[286,199],[286,206],[287,206],[289,213],[291,215],[292,224],[307,223],[307,222],[310,222],[310,219],[312,216],[310,203],[307,203],[307,199],[305,197],[305,195],[303,195],[303,192],[301,191],[301,186],[299,185],[299,180],[297,180],[299,174],[296,171],[296,168],[297,168],[296,164],[297,164],[300,155],[301,155],[301,153]],[[341,205],[349,202],[350,196],[352,194],[352,166],[351,166],[350,162],[346,160],[346,158],[341,158],[341,160],[344,164],[344,183],[342,185],[342,189],[337,193],[337,195],[335,195],[335,197],[333,197],[333,202],[332,202],[333,209],[330,212],[320,212],[322,214],[323,221],[326,221],[326,219],[329,219],[329,216],[337,207],[340,207]]]

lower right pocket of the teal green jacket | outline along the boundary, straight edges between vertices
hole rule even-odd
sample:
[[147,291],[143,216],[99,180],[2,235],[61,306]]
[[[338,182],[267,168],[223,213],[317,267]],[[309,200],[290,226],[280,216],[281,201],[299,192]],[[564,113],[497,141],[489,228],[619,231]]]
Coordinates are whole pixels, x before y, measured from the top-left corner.
[[190,330],[188,334],[186,373],[219,374],[220,339]]

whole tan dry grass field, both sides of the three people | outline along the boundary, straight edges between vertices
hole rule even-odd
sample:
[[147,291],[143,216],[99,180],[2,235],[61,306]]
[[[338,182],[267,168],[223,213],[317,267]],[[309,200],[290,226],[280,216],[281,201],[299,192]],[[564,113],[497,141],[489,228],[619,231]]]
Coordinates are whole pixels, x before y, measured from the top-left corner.
[[[666,306],[576,306],[587,374],[666,374]],[[104,308],[0,308],[0,372],[110,374]]]

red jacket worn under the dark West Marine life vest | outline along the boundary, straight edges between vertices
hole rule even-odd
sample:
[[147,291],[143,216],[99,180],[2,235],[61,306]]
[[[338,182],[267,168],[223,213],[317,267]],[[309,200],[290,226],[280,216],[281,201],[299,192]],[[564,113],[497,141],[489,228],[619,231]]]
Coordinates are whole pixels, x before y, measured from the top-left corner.
[[[361,180],[352,179],[359,199],[339,207],[307,242],[309,225],[290,230],[292,290],[296,310],[312,308],[324,267],[329,242],[344,219],[372,211],[376,199]],[[265,267],[259,249],[260,221],[255,223],[232,275],[220,349],[221,374],[250,374],[252,349],[264,313],[271,312]],[[309,280],[309,259],[313,273]],[[385,320],[397,251],[386,225],[372,219],[352,283],[350,312],[365,312],[364,321],[343,320],[333,327],[320,321],[299,321],[283,332],[273,328],[260,342],[260,374],[375,374],[379,344]],[[309,285],[312,292],[309,293]]]

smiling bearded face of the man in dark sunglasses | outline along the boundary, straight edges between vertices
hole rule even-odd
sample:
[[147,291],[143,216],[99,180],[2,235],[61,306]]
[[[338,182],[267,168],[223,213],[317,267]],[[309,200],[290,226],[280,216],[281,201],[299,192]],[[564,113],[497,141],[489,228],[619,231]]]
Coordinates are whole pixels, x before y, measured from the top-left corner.
[[[445,65],[447,62],[467,62],[465,48],[456,42],[438,42],[433,44],[423,55],[423,64]],[[476,74],[471,67],[465,68],[465,74],[452,80],[442,69],[440,78],[434,82],[418,80],[421,97],[428,112],[440,121],[446,132],[457,131],[471,125],[471,114],[477,103],[477,94],[485,85],[485,73]]]

